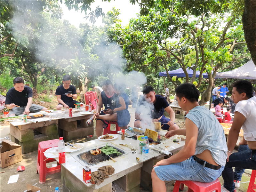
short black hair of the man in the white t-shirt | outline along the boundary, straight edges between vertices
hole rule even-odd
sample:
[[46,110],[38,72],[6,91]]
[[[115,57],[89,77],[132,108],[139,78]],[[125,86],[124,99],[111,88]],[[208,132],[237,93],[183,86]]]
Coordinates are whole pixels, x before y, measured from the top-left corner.
[[245,93],[248,98],[252,98],[253,87],[252,83],[247,80],[237,80],[231,84],[231,87],[236,87],[236,91],[241,94]]

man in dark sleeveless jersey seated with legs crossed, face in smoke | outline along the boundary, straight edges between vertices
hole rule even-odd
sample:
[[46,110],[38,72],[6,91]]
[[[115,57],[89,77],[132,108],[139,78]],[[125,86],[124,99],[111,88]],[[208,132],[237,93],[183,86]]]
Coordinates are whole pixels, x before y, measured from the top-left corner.
[[[103,128],[108,127],[109,121],[117,121],[117,113],[113,113],[116,108],[118,95],[115,93],[113,84],[110,80],[103,82],[103,91],[99,95],[99,100],[96,108],[96,134],[100,137],[103,132]],[[101,111],[102,104],[106,111]],[[101,112],[100,112],[101,111]]]

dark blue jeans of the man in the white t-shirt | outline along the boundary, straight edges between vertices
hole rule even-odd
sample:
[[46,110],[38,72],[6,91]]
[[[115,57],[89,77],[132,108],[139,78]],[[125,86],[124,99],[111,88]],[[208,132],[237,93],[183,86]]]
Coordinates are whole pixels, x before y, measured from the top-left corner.
[[[240,148],[240,147],[239,147]],[[241,152],[232,153],[222,172],[224,187],[229,191],[234,191],[234,172],[232,167],[241,169],[256,169],[256,150],[247,149]]]

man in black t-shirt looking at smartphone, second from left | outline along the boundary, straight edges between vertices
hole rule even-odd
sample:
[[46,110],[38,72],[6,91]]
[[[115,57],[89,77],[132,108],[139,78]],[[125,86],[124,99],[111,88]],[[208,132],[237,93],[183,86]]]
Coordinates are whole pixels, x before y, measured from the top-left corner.
[[55,92],[59,104],[57,105],[57,110],[61,108],[75,108],[75,100],[77,98],[76,87],[70,84],[70,75],[64,75],[62,79],[62,85],[60,85]]

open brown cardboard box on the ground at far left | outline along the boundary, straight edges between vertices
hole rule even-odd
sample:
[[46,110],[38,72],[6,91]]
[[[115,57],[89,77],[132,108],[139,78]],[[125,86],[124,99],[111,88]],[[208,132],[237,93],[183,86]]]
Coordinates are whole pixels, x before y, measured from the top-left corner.
[[0,167],[8,167],[9,165],[22,161],[21,146],[10,141],[2,140],[3,148],[0,153]]

